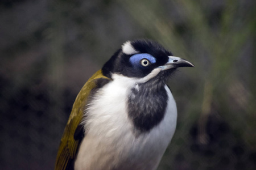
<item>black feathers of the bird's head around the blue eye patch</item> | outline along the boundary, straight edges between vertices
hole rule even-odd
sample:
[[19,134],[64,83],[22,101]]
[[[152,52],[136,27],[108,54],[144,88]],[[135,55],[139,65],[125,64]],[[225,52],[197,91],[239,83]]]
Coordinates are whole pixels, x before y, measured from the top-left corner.
[[[127,48],[130,48],[128,53],[126,52]],[[130,53],[130,51],[134,51],[134,53]],[[130,57],[134,56],[134,54],[150,54],[156,61],[148,67],[135,66],[130,62]],[[143,78],[156,67],[168,62],[168,56],[172,56],[172,53],[164,49],[158,42],[144,39],[127,41],[122,48],[118,49],[109,61],[105,63],[102,67],[102,73],[109,78],[111,78],[113,73],[128,77]],[[168,72],[170,72],[170,70],[168,70]],[[162,76],[163,75],[166,74],[162,74]]]

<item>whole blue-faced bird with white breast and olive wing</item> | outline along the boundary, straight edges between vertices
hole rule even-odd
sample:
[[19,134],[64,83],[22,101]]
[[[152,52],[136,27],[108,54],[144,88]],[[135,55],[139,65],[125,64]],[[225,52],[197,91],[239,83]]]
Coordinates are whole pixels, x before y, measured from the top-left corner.
[[77,95],[55,170],[156,169],[176,129],[178,67],[194,65],[153,40],[123,43]]

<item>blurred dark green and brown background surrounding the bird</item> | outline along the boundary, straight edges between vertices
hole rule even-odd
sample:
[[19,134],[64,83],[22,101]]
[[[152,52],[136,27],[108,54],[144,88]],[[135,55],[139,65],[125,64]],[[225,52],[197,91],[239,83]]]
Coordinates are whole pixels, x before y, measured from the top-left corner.
[[169,82],[164,169],[256,169],[256,1],[0,1],[0,169],[53,169],[73,101],[127,40],[195,64]]

